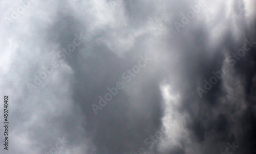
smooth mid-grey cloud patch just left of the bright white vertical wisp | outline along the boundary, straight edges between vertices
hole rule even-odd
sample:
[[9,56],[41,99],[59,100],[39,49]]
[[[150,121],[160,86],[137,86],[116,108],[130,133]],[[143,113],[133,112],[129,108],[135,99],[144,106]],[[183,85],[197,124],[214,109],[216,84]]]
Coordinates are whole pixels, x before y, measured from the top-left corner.
[[98,114],[95,115],[91,105],[98,105],[99,95],[104,97],[104,94],[109,92],[108,87],[115,87],[118,81],[125,83],[121,78],[122,73],[126,69],[131,69],[139,57],[118,59],[115,54],[104,49],[104,46],[96,46],[93,50],[102,52],[97,53],[96,58],[88,59],[90,65],[87,64],[87,70],[76,71],[79,84],[75,88],[73,98],[88,117],[86,127],[93,132],[93,140],[99,147],[99,153],[124,153],[130,150],[132,152],[133,149],[143,146],[148,133],[156,131],[161,124],[158,82],[141,81],[142,76],[146,75],[145,71],[151,67],[148,64],[143,68],[145,70],[141,70],[130,83],[125,84],[124,90],[118,90],[108,105],[98,110]]

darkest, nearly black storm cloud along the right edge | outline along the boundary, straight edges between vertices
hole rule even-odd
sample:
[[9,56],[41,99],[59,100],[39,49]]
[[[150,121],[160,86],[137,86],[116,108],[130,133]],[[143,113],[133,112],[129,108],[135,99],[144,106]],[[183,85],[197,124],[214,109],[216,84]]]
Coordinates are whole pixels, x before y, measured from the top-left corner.
[[[244,39],[255,38],[255,30],[249,29],[249,27],[255,27],[254,18],[251,20],[252,25],[240,24],[245,22],[246,10],[243,7],[242,1],[236,1],[234,13],[230,15],[234,17],[215,18],[214,23],[223,24],[224,28],[229,27],[229,23],[225,24],[224,20],[230,20],[232,23],[239,22],[236,24],[237,29],[230,25],[232,29],[220,35],[221,41],[218,44],[209,42],[212,29],[206,29],[207,22],[205,21],[191,21],[178,37],[173,36],[173,40],[181,44],[178,46],[183,62],[180,66],[179,80],[176,80],[180,85],[176,88],[182,95],[181,112],[189,114],[190,122],[187,122],[186,127],[196,136],[194,142],[204,145],[200,150],[202,153],[221,153],[223,149],[219,143],[226,144],[234,141],[239,145],[244,145],[246,141],[251,145],[255,142],[250,137],[246,137],[247,133],[244,134],[247,131],[248,134],[253,134],[252,130],[255,126],[253,122],[255,115],[252,111],[255,107],[248,100],[248,97],[251,97],[248,92],[251,91],[250,87],[255,78],[255,66],[253,65],[255,47],[246,52],[246,55],[242,57],[242,60],[237,61],[234,67],[229,65],[230,71],[225,74],[224,79],[204,93],[202,99],[196,91],[197,87],[203,87],[204,79],[209,80],[213,75],[212,71],[221,70],[221,66],[226,64],[225,55],[237,53],[238,49],[243,48]],[[220,12],[225,14],[227,10],[223,7]],[[196,25],[193,27],[193,24],[197,24],[198,27]],[[242,34],[239,39],[234,37],[239,34]],[[210,46],[210,43],[216,45]],[[227,53],[224,53],[224,48]],[[246,128],[243,127],[244,116],[247,116],[248,127]],[[210,144],[207,143],[209,140],[212,140]],[[213,147],[216,150],[211,150]],[[246,148],[240,146],[236,153],[252,153],[253,150],[249,146]]]

